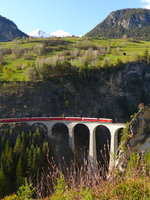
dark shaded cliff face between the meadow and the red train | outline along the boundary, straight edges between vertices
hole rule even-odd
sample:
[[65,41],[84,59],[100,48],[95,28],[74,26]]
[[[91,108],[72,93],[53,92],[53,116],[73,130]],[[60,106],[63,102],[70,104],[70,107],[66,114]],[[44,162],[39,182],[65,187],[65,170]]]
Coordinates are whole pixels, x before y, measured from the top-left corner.
[[129,63],[102,69],[88,80],[0,83],[0,118],[25,116],[108,117],[127,121],[150,102],[150,66]]

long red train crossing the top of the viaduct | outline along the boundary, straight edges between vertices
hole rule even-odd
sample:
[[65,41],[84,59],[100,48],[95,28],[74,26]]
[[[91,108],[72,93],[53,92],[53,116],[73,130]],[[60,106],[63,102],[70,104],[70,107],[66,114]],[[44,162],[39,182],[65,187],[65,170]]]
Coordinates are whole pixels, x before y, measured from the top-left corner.
[[107,118],[88,118],[88,117],[25,117],[25,118],[5,118],[0,119],[0,123],[4,122],[28,122],[28,121],[85,121],[85,122],[108,122],[112,123],[112,119]]

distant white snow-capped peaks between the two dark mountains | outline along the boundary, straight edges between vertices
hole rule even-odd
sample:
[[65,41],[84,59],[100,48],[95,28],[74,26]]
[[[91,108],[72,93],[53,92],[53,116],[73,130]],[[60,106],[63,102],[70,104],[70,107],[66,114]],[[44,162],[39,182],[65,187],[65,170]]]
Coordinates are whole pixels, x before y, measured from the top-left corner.
[[72,36],[70,33],[65,32],[63,30],[58,30],[50,33],[46,33],[44,31],[41,31],[40,29],[36,29],[30,33],[28,33],[29,36],[35,37],[35,38],[47,38],[47,37],[70,37]]

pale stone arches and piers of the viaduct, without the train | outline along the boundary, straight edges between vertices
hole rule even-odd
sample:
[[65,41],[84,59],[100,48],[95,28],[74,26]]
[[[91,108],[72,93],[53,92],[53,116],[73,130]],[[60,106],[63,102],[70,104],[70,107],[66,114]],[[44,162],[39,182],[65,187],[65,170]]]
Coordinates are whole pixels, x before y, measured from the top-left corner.
[[[32,125],[32,121],[28,122]],[[38,123],[38,122],[37,122]],[[114,154],[120,143],[120,133],[125,127],[121,123],[98,123],[76,121],[43,121],[50,138],[62,139],[78,157],[79,162],[87,159],[94,168],[101,162],[105,168],[114,166]],[[59,134],[56,133],[59,130]],[[64,134],[65,131],[65,134]],[[65,137],[66,140],[63,140]],[[103,156],[104,154],[105,156]]]

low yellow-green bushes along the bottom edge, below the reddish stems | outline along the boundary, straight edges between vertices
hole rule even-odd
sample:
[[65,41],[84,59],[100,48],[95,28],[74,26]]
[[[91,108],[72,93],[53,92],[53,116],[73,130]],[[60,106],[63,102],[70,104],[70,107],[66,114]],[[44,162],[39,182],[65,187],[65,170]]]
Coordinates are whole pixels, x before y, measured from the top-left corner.
[[[62,186],[63,187],[63,186]],[[144,179],[123,179],[119,182],[101,182],[92,191],[89,188],[65,189],[51,200],[149,200],[150,183]]]

